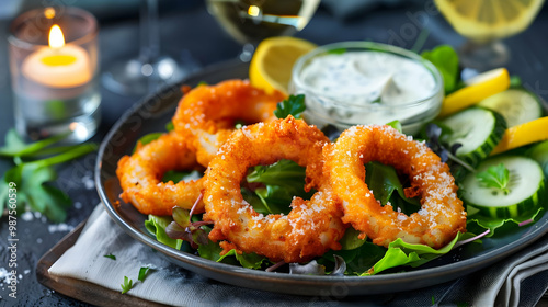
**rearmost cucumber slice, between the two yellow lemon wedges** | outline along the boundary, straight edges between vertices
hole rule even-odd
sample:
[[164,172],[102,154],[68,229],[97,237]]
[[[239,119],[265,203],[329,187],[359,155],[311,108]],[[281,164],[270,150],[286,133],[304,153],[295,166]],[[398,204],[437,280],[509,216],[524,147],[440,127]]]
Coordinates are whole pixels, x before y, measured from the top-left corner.
[[480,101],[478,105],[499,112],[509,127],[543,116],[540,99],[525,89],[505,90]]

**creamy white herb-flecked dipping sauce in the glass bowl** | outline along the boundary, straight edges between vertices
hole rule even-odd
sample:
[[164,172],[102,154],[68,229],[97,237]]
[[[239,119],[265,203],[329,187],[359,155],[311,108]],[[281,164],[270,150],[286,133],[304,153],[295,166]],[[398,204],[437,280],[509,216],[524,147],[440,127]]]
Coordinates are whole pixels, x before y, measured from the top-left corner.
[[318,93],[349,104],[400,104],[432,94],[435,80],[424,66],[380,52],[316,57],[302,70],[302,81]]

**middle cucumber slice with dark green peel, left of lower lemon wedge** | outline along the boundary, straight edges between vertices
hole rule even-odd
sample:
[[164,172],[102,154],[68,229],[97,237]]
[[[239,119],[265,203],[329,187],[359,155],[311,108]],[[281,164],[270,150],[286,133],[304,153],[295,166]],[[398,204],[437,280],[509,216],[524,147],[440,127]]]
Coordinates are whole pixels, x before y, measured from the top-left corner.
[[506,121],[498,112],[484,107],[469,107],[441,122],[450,132],[442,141],[461,144],[456,156],[476,167],[493,150],[506,129]]

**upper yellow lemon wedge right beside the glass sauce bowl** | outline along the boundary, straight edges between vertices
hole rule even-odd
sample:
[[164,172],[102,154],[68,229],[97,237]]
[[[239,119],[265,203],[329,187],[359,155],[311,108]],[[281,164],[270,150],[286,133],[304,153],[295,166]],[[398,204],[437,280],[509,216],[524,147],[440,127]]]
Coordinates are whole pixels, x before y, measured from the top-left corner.
[[510,87],[506,68],[496,68],[480,73],[467,81],[467,87],[448,94],[442,104],[439,117],[479,103],[488,96],[505,91]]

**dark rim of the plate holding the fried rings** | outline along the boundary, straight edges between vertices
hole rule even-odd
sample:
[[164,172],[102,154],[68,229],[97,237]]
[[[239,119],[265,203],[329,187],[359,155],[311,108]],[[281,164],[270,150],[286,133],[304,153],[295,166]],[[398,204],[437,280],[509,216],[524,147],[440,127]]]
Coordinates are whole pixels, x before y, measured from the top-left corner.
[[[369,295],[369,294],[383,294],[383,293],[391,293],[395,292],[392,288],[387,287],[386,291],[383,291],[383,287],[386,287],[387,285],[393,285],[395,283],[409,283],[410,281],[413,281],[414,283],[411,284],[406,291],[408,289],[416,289],[420,287],[424,286],[431,286],[435,284],[439,284],[443,282],[447,282],[450,280],[455,280],[458,277],[461,277],[464,275],[473,273],[478,270],[481,270],[483,268],[487,268],[490,264],[493,264],[524,248],[529,246],[530,243],[535,242],[539,238],[541,238],[544,235],[548,232],[548,220],[539,220],[535,225],[530,227],[536,227],[536,229],[530,230],[532,232],[528,234],[525,237],[520,238],[518,240],[515,240],[509,245],[505,245],[503,247],[495,248],[491,251],[488,251],[481,255],[478,257],[472,257],[470,259],[465,259],[460,260],[454,263],[449,264],[444,264],[439,266],[433,266],[433,268],[426,268],[422,270],[415,270],[411,272],[401,272],[401,273],[392,273],[392,274],[379,274],[379,275],[373,275],[373,276],[319,276],[319,275],[296,275],[296,274],[287,274],[287,273],[275,273],[275,272],[265,272],[261,270],[252,270],[252,269],[246,269],[237,265],[231,265],[231,264],[226,264],[226,263],[219,263],[215,262],[208,259],[201,258],[195,254],[186,253],[176,249],[173,249],[171,247],[168,247],[163,243],[158,242],[157,240],[153,240],[151,237],[142,234],[139,229],[136,229],[134,226],[132,226],[127,220],[123,218],[123,216],[117,212],[116,206],[112,204],[109,200],[109,195],[106,193],[106,190],[104,187],[104,182],[102,181],[102,162],[105,154],[105,148],[107,147],[109,143],[113,138],[113,136],[118,132],[118,129],[124,125],[124,123],[130,118],[132,116],[136,115],[137,112],[142,109],[145,105],[149,104],[150,101],[158,96],[161,95],[162,92],[165,92],[168,90],[173,90],[175,88],[180,88],[182,84],[189,83],[190,80],[201,80],[204,79],[203,76],[208,76],[212,73],[216,73],[219,70],[226,70],[226,69],[235,69],[239,65],[248,65],[248,64],[242,64],[239,60],[230,60],[230,61],[225,61],[225,62],[219,62],[215,64],[212,66],[208,66],[204,68],[203,70],[190,75],[187,78],[184,78],[183,80],[173,83],[171,86],[164,87],[160,89],[159,91],[151,93],[147,96],[145,96],[139,103],[136,103],[133,105],[130,109],[128,109],[117,121],[116,123],[111,127],[109,133],[105,135],[103,140],[101,141],[101,146],[98,151],[98,158],[95,162],[95,172],[94,172],[94,180],[95,180],[95,186],[99,193],[99,196],[101,198],[101,202],[103,206],[105,207],[106,212],[111,216],[111,218],[116,221],[118,226],[122,227],[122,229],[128,234],[130,237],[139,241],[140,243],[144,243],[146,246],[149,246],[158,251],[160,251],[163,255],[168,258],[168,260],[171,260],[172,262],[175,262],[180,266],[183,266],[186,270],[193,271],[197,274],[205,275],[207,277],[238,285],[238,286],[244,286],[244,287],[250,287],[250,288],[255,288],[255,289],[263,289],[263,291],[272,291],[276,293],[285,293],[285,294],[297,294],[297,295],[318,295],[318,293],[321,289],[324,289],[326,287],[333,286],[336,284],[343,284],[347,286],[349,295]],[[240,76],[241,77],[241,76]],[[546,216],[547,212],[545,212]],[[543,225],[538,225],[540,221],[544,221]],[[465,264],[463,264],[465,263]],[[466,266],[466,270],[464,270],[464,266]],[[466,271],[466,272],[464,272]],[[218,274],[228,274],[227,277],[239,277],[239,278],[249,278],[250,276],[253,276],[254,280],[260,280],[262,282],[267,282],[267,283],[276,283],[277,286],[274,287],[274,289],[265,288],[261,285],[255,285],[253,283],[249,282],[235,282],[231,278],[222,278],[221,276],[216,275],[215,273]],[[250,280],[253,280],[250,278]],[[426,283],[415,283],[418,280],[424,280],[424,278],[430,278],[431,282]],[[437,278],[436,282],[432,282],[432,280]],[[302,288],[290,288],[293,284],[299,284],[301,286],[305,286],[305,292],[302,292]],[[284,284],[287,284],[287,286],[284,287]],[[313,287],[319,288],[315,289]],[[368,292],[366,287],[375,286],[375,291]],[[364,291],[365,288],[365,291]]]

